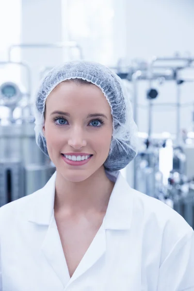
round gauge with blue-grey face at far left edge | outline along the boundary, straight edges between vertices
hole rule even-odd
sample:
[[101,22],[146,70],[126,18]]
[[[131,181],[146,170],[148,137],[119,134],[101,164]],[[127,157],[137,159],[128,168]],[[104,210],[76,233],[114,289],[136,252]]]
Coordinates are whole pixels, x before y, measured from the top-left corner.
[[22,93],[13,82],[5,82],[0,85],[0,105],[15,107],[20,101]]

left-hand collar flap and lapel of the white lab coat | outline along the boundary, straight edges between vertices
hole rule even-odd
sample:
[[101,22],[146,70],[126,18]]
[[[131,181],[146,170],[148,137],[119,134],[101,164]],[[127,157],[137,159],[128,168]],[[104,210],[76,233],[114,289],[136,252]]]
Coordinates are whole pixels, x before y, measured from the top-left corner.
[[[58,278],[65,287],[70,279],[59,232],[54,218],[56,172],[47,184],[38,190],[27,210],[28,221],[35,223],[40,229],[48,226],[41,250]],[[40,230],[41,231],[41,230]]]

